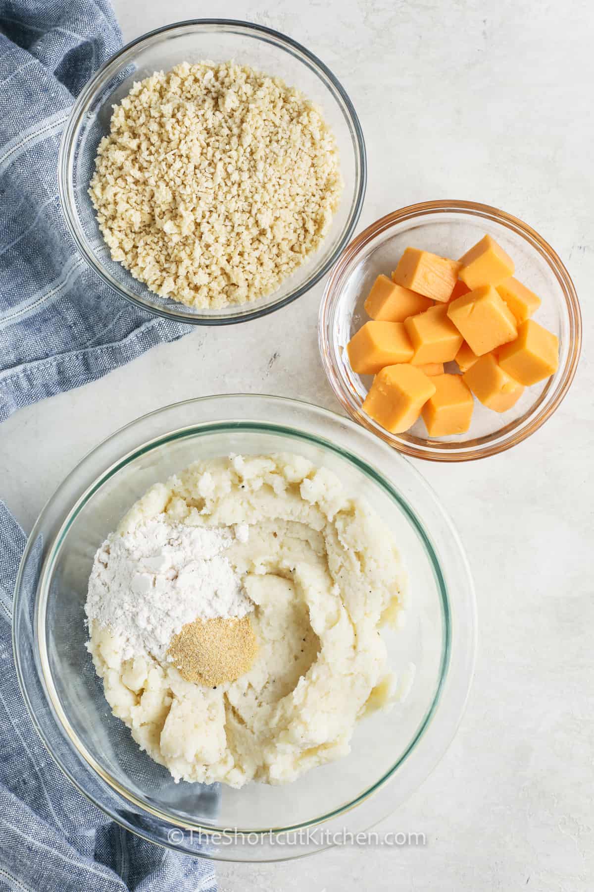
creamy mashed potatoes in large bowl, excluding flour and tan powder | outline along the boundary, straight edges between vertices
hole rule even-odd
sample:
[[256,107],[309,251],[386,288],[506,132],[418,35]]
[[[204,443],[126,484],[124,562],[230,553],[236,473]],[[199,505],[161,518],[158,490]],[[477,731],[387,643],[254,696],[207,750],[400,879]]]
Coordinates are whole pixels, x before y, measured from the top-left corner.
[[124,660],[108,628],[89,649],[105,696],[175,780],[286,783],[345,756],[354,725],[395,684],[379,634],[402,607],[392,533],[338,478],[297,455],[198,462],[151,488],[119,526],[249,524],[225,554],[254,602],[256,660],[232,682],[184,681],[151,655]]

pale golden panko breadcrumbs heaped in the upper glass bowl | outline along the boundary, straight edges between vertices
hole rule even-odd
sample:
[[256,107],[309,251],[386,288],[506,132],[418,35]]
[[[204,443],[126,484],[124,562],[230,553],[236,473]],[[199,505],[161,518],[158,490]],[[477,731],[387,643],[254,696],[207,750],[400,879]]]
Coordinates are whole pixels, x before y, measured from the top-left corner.
[[232,62],[134,83],[95,165],[89,194],[113,260],[197,308],[272,293],[320,246],[342,190],[321,111]]

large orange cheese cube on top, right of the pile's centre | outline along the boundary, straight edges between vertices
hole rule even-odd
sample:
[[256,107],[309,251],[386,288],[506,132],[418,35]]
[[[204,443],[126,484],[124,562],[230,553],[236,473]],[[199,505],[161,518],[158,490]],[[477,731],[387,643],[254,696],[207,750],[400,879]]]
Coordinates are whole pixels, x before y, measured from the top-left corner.
[[482,285],[449,303],[448,317],[476,356],[517,335],[516,319],[492,285]]

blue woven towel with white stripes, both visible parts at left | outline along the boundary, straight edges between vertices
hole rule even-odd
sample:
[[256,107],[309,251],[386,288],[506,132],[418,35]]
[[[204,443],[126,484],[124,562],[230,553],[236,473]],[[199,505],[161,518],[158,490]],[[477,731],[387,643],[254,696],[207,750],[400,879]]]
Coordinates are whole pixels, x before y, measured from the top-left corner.
[[[187,329],[102,285],[61,216],[61,128],[73,96],[120,43],[108,0],[0,0],[0,421]],[[211,863],[110,822],[37,737],[12,659],[24,545],[0,502],[0,889],[216,892]]]

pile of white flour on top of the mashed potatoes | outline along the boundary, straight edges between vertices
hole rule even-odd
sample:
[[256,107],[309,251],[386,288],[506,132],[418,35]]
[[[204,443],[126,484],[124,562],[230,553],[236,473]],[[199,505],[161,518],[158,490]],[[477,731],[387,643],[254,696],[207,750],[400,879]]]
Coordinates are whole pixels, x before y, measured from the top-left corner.
[[158,516],[110,533],[94,557],[85,611],[109,627],[123,659],[166,658],[183,626],[195,619],[245,616],[253,604],[224,550],[247,541],[248,524],[228,528],[171,523]]

